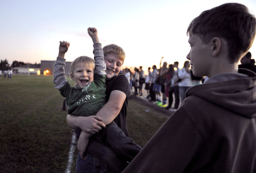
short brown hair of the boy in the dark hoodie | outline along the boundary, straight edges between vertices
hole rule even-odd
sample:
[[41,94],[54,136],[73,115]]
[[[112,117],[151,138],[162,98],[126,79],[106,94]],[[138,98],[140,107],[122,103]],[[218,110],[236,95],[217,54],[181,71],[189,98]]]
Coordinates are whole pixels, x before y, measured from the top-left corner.
[[230,63],[250,49],[256,32],[256,19],[245,5],[226,3],[203,11],[188,26],[187,34],[198,35],[204,44],[214,37],[225,39]]

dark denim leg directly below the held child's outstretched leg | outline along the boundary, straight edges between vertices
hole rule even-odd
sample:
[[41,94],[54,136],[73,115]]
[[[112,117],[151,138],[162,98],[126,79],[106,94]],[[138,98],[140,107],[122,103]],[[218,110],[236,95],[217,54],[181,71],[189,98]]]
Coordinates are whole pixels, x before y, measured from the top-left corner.
[[95,136],[90,138],[86,152],[102,163],[110,173],[122,172],[128,165],[125,160],[117,156],[113,149]]

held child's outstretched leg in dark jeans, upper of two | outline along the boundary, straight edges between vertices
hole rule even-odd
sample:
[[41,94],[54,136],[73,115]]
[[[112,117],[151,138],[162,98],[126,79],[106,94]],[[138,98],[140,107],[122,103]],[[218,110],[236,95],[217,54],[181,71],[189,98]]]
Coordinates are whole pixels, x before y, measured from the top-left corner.
[[109,145],[122,159],[131,162],[142,149],[139,145],[128,138],[113,121],[102,131],[103,141]]

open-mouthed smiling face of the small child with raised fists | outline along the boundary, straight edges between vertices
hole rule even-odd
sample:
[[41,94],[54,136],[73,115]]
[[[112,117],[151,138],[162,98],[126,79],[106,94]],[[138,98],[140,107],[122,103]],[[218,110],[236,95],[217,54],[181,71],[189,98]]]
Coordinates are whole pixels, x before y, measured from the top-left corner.
[[93,81],[94,69],[89,65],[79,63],[76,65],[70,76],[75,80],[78,87],[82,89]]

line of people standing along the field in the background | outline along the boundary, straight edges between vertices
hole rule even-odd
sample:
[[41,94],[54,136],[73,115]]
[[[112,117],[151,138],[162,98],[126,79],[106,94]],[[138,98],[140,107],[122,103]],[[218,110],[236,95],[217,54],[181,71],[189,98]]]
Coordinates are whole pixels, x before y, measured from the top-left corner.
[[[153,65],[152,68],[148,67],[147,76],[145,76],[142,66],[139,69],[135,67],[134,73],[129,68],[125,68],[122,74],[128,78],[131,92],[135,96],[142,96],[143,89],[145,89],[147,91],[147,96],[144,96],[146,99],[162,108],[175,111],[179,108],[180,102],[185,99],[186,91],[194,85],[202,84],[204,78],[193,75],[189,61],[185,61],[183,68],[180,69],[178,61],[167,67],[167,62],[162,64],[162,59],[163,57],[159,69],[156,65]],[[174,106],[172,107],[173,100]]]

